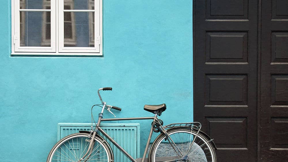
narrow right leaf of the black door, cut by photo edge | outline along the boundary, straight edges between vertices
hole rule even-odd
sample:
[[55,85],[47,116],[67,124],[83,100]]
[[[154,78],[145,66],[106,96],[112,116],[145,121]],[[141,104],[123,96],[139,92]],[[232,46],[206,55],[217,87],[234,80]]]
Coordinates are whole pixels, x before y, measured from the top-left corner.
[[288,1],[262,1],[259,161],[288,161]]

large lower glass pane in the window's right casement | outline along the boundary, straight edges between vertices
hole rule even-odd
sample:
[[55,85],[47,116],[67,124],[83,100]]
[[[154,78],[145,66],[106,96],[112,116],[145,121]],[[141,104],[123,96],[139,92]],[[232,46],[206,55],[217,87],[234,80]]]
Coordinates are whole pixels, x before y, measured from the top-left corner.
[[94,12],[64,12],[64,47],[94,47]]

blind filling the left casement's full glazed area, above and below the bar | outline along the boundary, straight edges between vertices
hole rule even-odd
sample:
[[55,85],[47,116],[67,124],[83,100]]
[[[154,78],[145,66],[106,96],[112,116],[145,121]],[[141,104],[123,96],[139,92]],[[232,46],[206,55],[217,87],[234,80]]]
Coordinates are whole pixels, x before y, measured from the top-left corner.
[[50,0],[20,0],[20,46],[51,46]]

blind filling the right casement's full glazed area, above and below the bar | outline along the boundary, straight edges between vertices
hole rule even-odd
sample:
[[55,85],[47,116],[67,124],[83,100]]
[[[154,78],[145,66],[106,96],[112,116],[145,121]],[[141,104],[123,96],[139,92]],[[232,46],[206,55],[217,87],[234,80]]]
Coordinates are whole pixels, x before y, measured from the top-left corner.
[[64,0],[64,47],[94,47],[94,1]]

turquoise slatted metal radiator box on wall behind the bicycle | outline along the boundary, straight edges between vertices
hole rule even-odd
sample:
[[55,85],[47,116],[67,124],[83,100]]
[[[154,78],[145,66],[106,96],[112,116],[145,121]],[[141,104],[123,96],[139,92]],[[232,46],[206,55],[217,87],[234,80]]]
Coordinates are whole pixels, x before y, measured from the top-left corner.
[[[124,148],[132,157],[140,156],[140,125],[139,123],[101,123],[101,128],[110,135],[121,147]],[[58,123],[58,141],[79,130],[90,131],[91,123]],[[100,134],[104,137],[102,134]],[[110,144],[115,162],[130,162],[106,137],[105,140]]]

